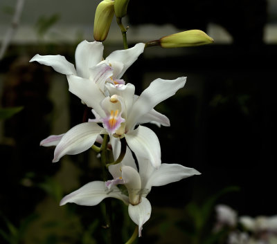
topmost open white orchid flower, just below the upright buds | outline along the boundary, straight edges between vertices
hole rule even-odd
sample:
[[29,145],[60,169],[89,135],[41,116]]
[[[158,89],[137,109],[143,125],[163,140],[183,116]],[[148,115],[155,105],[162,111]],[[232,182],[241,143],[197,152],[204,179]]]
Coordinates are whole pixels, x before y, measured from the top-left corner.
[[[127,50],[116,50],[103,60],[104,46],[99,41],[82,41],[75,50],[75,64],[68,62],[61,55],[35,55],[30,62],[37,61],[39,64],[51,66],[55,71],[78,79],[91,80],[91,89],[98,94],[104,91],[105,82],[113,84],[123,84],[120,79],[127,68],[131,66],[136,59],[143,53],[145,44],[136,44],[133,48]],[[72,79],[72,77],[71,77]],[[98,91],[100,88],[100,91]],[[70,89],[70,88],[69,88]]]

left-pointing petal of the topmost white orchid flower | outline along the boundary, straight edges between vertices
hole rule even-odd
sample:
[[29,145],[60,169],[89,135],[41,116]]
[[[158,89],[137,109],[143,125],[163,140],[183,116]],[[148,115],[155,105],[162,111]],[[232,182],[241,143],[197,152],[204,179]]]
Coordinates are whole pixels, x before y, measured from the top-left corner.
[[44,64],[51,66],[55,71],[62,73],[64,75],[75,75],[76,71],[74,65],[66,60],[64,56],[61,55],[35,55],[30,62],[37,61],[39,64]]

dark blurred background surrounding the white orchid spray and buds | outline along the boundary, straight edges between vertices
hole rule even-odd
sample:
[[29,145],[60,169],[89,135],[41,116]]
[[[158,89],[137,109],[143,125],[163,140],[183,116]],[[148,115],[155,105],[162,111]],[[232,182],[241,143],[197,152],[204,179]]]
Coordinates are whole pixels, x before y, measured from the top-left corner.
[[[69,93],[65,75],[28,62],[39,53],[74,64],[78,43],[93,41],[99,2],[0,2],[0,50],[8,44],[0,53],[0,243],[105,243],[103,205],[59,207],[62,196],[101,180],[96,153],[53,164],[54,149],[39,147],[82,122],[84,105]],[[130,47],[190,29],[215,39],[208,46],[147,48],[125,73],[138,95],[158,77],[188,77],[156,108],[171,126],[148,126],[161,142],[162,162],[202,172],[152,189],[152,218],[139,243],[220,243],[211,237],[218,203],[239,216],[276,215],[277,1],[141,0],[130,1],[127,13]],[[115,19],[103,44],[105,57],[123,49]],[[123,243],[134,225],[125,206],[112,205],[114,243]]]

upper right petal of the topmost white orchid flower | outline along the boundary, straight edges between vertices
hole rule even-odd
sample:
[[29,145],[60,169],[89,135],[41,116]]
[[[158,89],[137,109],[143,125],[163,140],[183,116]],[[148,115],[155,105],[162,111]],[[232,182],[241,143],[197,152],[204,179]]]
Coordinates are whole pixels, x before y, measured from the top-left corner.
[[139,43],[126,50],[116,50],[106,58],[106,61],[111,63],[111,66],[113,66],[114,61],[121,62],[124,65],[123,70],[115,77],[116,79],[120,79],[125,71],[127,71],[127,68],[138,59],[139,55],[143,53],[144,46],[145,44]]

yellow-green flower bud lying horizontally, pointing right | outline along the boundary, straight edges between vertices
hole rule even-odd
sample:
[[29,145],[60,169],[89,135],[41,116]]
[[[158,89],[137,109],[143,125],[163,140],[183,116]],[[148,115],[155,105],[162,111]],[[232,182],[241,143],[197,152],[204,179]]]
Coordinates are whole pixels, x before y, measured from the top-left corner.
[[201,46],[213,43],[213,38],[209,37],[202,30],[187,30],[159,39],[162,48],[181,48],[184,46]]

